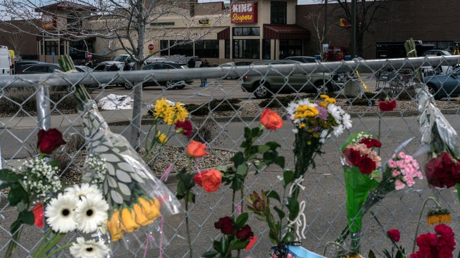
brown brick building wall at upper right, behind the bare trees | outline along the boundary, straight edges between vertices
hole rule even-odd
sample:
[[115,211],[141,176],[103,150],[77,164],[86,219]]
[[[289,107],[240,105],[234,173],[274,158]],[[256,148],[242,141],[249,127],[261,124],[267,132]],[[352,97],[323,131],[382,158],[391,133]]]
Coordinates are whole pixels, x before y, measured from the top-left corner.
[[[327,42],[330,46],[349,47],[349,29],[339,27],[339,19],[345,18],[343,9],[329,0]],[[382,1],[386,10],[377,11],[378,21],[374,22],[363,40],[363,58],[376,57],[376,41],[403,41],[409,38],[423,41],[460,41],[460,0],[387,0]],[[359,3],[358,3],[359,5]],[[359,7],[358,7],[359,9]],[[320,24],[324,24],[324,5],[307,4],[296,6],[296,24],[312,34],[304,46],[305,55],[317,55],[318,38],[307,19],[309,13],[321,14]]]

